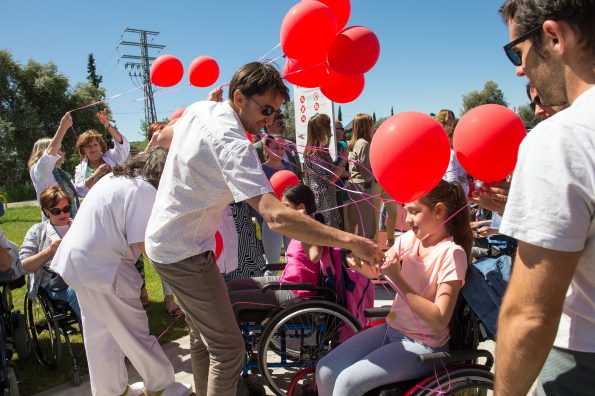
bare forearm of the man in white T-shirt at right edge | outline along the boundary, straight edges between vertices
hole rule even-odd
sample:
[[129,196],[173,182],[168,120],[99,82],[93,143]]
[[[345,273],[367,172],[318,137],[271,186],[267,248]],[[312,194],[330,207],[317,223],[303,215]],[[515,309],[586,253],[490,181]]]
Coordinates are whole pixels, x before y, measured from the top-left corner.
[[519,242],[498,317],[499,395],[526,395],[554,343],[562,306],[581,252]]

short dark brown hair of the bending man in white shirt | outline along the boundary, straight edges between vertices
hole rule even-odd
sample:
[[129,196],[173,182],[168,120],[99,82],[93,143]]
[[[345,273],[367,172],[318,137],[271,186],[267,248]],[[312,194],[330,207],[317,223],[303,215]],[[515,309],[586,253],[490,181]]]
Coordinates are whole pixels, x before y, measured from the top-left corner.
[[274,91],[283,96],[285,102],[289,102],[289,89],[279,71],[270,64],[252,62],[240,67],[229,83],[229,99],[233,100],[236,90],[247,97]]

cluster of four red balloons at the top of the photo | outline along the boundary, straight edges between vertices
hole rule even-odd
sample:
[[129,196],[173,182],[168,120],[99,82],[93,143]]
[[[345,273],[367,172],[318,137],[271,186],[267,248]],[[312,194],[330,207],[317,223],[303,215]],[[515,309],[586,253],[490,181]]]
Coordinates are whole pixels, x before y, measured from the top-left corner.
[[350,14],[349,0],[302,0],[287,12],[281,24],[287,81],[320,87],[337,103],[357,99],[364,90],[364,73],[378,61],[380,43],[366,27],[344,28]]

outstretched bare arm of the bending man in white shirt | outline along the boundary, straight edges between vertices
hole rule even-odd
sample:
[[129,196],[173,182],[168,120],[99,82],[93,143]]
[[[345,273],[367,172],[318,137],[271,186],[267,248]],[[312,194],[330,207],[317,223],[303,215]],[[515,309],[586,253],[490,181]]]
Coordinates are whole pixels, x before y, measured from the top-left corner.
[[327,227],[298,211],[283,205],[273,194],[266,193],[246,200],[272,231],[299,241],[319,246],[350,249],[370,263],[380,263],[384,254],[373,241],[335,228]]

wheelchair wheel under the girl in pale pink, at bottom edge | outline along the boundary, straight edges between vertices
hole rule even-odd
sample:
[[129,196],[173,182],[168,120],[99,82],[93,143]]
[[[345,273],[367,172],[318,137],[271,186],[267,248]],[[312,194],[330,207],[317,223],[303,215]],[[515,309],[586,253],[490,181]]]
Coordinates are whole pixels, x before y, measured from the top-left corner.
[[415,396],[437,393],[456,396],[490,396],[494,394],[494,374],[486,367],[461,366],[449,369],[438,376],[427,377],[415,385]]

